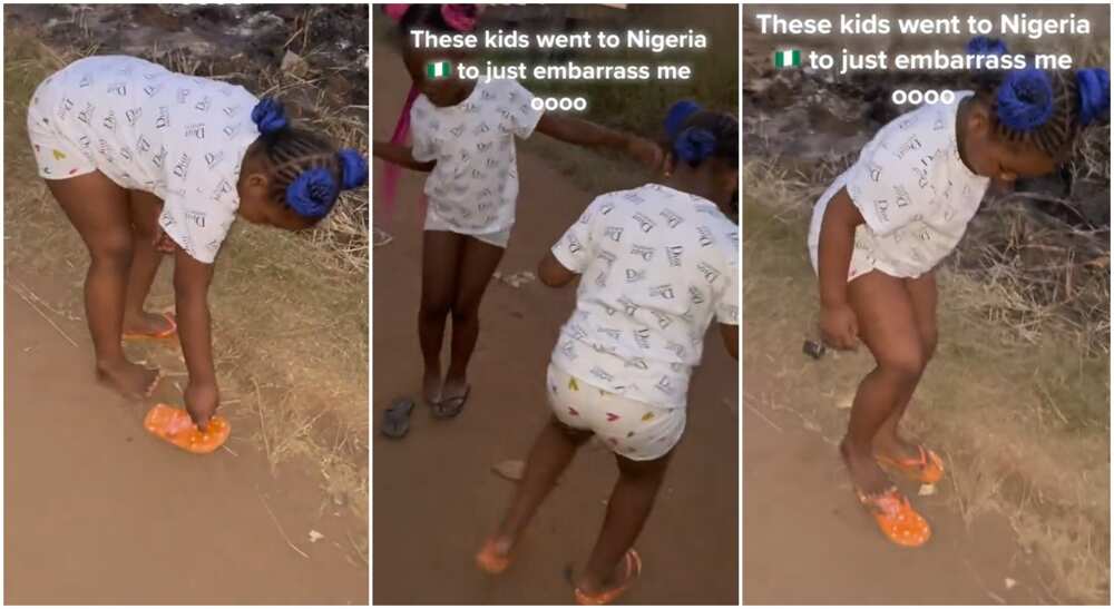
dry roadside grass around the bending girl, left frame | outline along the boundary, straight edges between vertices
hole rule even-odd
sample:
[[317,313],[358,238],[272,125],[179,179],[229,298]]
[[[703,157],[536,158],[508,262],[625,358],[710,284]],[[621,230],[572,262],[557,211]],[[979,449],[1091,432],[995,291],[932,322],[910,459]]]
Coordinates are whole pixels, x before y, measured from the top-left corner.
[[[71,285],[66,302],[51,303],[71,318],[81,315],[88,253],[36,175],[26,111],[43,77],[94,50],[49,48],[33,32],[6,30],[6,265]],[[367,149],[365,125],[320,99],[310,120]],[[209,306],[225,413],[240,429],[256,429],[254,441],[273,465],[310,463],[326,501],[365,517],[368,230],[360,196],[362,212],[349,199],[307,236],[237,223],[222,248]],[[169,282],[156,282],[149,302],[155,310],[173,306]]]

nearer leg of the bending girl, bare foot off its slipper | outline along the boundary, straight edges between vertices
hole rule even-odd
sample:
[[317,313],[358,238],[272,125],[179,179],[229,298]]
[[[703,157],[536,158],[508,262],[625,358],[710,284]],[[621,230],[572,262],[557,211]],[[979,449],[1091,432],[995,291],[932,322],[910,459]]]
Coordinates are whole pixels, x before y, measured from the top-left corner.
[[85,312],[97,376],[125,395],[148,395],[158,381],[158,371],[129,362],[120,345],[133,254],[127,190],[100,171],[46,181],[89,248]]

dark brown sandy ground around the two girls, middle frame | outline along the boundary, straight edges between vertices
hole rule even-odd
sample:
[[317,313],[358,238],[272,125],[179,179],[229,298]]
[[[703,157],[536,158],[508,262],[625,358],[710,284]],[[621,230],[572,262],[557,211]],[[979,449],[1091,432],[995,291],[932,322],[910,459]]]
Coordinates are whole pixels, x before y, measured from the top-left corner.
[[[374,135],[390,137],[409,79],[390,50],[373,53]],[[538,136],[544,137],[544,136]],[[374,164],[375,176],[382,165]],[[593,194],[580,191],[538,157],[519,151],[518,224],[504,273],[532,271]],[[394,240],[373,254],[374,422],[398,395],[416,395],[421,357],[416,336],[420,226],[414,202],[422,176],[403,173],[399,214],[377,225]],[[603,521],[615,478],[608,451],[586,448],[531,523],[510,570],[480,572],[472,556],[496,525],[511,483],[491,473],[524,459],[548,406],[544,374],[574,291],[494,282],[471,365],[473,392],[453,421],[416,407],[402,441],[373,440],[373,590],[375,603],[568,603],[569,564],[583,564]],[[720,603],[739,600],[737,367],[715,340],[690,395],[688,426],[637,547],[642,581],[625,602]]]

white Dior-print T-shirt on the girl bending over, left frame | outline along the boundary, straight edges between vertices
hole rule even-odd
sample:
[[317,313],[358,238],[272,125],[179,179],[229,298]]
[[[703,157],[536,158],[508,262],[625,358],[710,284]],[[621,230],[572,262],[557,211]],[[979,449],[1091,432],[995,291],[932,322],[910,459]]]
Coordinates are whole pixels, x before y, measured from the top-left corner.
[[260,137],[255,96],[125,56],[78,60],[51,81],[59,132],[116,184],[162,198],[159,226],[213,263],[240,207],[241,163]]

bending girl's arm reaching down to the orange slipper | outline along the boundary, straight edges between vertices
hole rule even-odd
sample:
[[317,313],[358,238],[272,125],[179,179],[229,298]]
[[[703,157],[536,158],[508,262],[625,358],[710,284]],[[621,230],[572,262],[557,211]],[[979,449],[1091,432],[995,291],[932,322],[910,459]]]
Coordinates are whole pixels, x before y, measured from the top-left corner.
[[180,247],[175,248],[174,299],[178,320],[182,354],[189,371],[186,410],[203,431],[221,403],[213,366],[213,343],[208,311],[208,287],[213,265],[195,261]]

